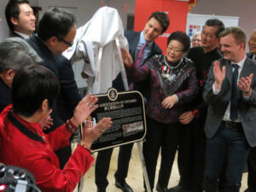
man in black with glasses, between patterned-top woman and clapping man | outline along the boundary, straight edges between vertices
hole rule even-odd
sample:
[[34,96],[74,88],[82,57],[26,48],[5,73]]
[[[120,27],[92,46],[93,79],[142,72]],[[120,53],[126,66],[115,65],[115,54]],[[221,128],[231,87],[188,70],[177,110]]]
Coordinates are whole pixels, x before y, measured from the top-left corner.
[[204,124],[207,104],[202,99],[202,92],[212,61],[222,57],[218,50],[218,34],[223,30],[224,24],[221,20],[207,20],[201,32],[201,46],[189,49],[187,55],[195,63],[199,90],[198,96],[188,104],[188,111],[179,117],[180,123],[183,124],[184,136],[181,138],[177,159],[180,181],[170,191],[203,191],[206,146]]

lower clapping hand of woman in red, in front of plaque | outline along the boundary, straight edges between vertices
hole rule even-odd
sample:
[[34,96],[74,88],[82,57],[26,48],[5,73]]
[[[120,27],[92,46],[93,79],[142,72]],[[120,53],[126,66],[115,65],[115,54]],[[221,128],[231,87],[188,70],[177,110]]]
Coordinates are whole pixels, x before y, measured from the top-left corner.
[[111,118],[102,118],[93,128],[89,128],[90,126],[85,124],[80,144],[90,148],[91,144],[100,137],[104,131],[107,131],[112,123]]

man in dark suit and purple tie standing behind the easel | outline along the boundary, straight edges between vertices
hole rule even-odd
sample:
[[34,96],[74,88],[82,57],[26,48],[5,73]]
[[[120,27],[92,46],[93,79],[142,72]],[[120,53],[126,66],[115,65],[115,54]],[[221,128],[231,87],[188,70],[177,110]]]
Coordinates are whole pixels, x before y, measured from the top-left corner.
[[[154,40],[160,36],[163,32],[166,32],[169,26],[169,18],[163,12],[154,12],[148,18],[148,21],[142,32],[125,31],[125,38],[127,38],[129,43],[129,52],[133,61],[136,61],[137,54],[139,50],[143,47],[143,44],[147,44],[143,52],[143,60],[141,65],[143,65],[148,59],[153,55],[160,55],[162,53],[161,49],[154,43]],[[130,88],[132,90],[139,90],[143,93],[143,96],[147,95],[148,82],[140,82],[138,84],[132,84],[128,77],[128,82],[131,84]],[[124,84],[119,73],[117,79],[113,81],[113,87],[119,91],[125,90]],[[133,144],[127,144],[119,148],[119,159],[118,159],[118,169],[115,172],[115,186],[122,191],[131,192],[131,187],[125,182],[127,177],[127,172],[129,168],[129,162],[131,159],[131,149]],[[106,191],[108,186],[108,169],[111,154],[113,149],[107,149],[100,151],[96,159],[96,186],[98,192]]]

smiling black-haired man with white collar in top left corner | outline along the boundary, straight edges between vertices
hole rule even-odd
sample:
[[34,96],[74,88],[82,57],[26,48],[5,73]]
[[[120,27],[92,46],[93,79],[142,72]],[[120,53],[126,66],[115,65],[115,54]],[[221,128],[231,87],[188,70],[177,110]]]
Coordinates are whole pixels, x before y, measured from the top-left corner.
[[36,29],[36,17],[27,0],[9,0],[5,18],[12,37],[29,38]]

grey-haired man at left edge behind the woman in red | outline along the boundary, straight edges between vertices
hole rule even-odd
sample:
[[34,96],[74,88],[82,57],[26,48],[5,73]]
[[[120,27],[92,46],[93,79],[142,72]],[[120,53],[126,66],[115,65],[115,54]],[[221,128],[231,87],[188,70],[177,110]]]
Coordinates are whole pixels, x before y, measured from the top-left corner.
[[36,61],[40,58],[21,38],[6,38],[0,44],[0,113],[12,103],[10,88],[15,72]]

